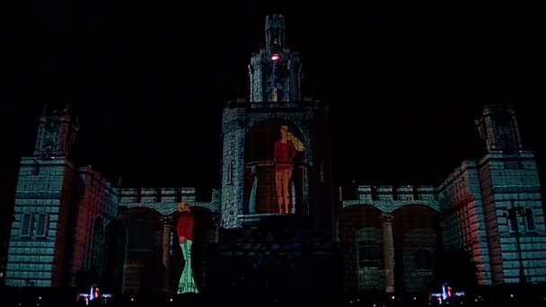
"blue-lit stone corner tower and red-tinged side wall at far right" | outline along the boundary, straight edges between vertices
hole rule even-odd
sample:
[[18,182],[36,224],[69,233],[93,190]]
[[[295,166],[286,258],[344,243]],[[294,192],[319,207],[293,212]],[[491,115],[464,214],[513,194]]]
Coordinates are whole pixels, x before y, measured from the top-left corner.
[[438,187],[445,244],[471,251],[481,285],[544,282],[546,232],[534,153],[523,150],[508,104],[487,103],[475,124],[486,154],[463,162]]

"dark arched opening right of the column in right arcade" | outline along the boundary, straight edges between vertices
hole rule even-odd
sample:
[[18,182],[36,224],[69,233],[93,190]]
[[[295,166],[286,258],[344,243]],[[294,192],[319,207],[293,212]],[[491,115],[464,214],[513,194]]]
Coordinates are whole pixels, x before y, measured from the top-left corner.
[[392,212],[395,285],[404,293],[428,291],[439,244],[439,215],[429,206],[401,206]]

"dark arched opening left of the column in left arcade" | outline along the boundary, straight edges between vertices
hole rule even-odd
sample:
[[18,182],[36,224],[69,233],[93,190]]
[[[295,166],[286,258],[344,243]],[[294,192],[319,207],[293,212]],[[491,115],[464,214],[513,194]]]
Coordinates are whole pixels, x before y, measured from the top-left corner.
[[147,207],[121,213],[128,229],[125,289],[128,294],[158,293],[163,284],[161,214]]

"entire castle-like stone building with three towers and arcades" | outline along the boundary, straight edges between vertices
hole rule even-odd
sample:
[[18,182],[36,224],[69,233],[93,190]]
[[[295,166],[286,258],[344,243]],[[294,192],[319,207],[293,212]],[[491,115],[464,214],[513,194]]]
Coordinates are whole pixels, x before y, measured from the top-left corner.
[[512,110],[484,109],[476,124],[487,153],[439,186],[358,186],[336,197],[328,107],[301,96],[284,16],[265,23],[250,98],[225,104],[218,189],[113,184],[74,164],[69,109],[44,110],[21,162],[6,285],[74,286],[91,274],[114,293],[176,293],[181,203],[196,221],[200,289],[427,291],[444,246],[471,252],[481,285],[546,281],[538,173]]

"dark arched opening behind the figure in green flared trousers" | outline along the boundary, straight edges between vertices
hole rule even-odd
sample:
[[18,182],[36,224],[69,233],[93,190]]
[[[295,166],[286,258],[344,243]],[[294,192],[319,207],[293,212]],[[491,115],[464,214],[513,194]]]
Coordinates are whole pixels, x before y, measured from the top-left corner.
[[[193,228],[193,244],[191,248],[191,268],[193,270],[195,283],[198,286],[199,292],[207,289],[207,268],[210,261],[211,244],[216,242],[218,232],[218,216],[211,210],[192,206],[190,208],[191,215],[194,218]],[[174,214],[174,225],[178,224],[180,213]],[[172,280],[171,285],[173,290],[178,290],[179,281],[182,275],[182,270],[185,266],[185,260],[182,255],[181,247],[178,241],[178,233],[176,227],[173,231],[174,235],[172,246]]]

